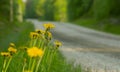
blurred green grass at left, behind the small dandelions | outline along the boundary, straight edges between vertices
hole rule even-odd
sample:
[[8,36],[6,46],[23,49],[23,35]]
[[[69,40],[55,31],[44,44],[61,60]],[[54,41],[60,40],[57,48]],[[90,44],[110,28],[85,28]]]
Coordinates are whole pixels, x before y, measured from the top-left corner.
[[5,50],[10,42],[14,42],[16,46],[25,44],[28,40],[28,34],[34,30],[34,26],[30,22],[23,23],[0,23],[0,50]]

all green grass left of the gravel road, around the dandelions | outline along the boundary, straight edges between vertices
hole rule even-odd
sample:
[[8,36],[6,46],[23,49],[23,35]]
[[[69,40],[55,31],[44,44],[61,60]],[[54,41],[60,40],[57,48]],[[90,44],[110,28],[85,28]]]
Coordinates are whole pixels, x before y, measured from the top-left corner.
[[[6,51],[9,43],[15,43],[16,47],[24,46],[29,40],[29,33],[34,31],[34,26],[30,22],[23,23],[0,23],[0,52]],[[24,54],[16,54],[13,56],[13,60],[10,63],[10,67],[7,72],[21,72],[24,58]],[[2,70],[4,57],[0,56],[0,70]],[[73,63],[67,63],[66,59],[58,51],[53,58],[49,72],[81,72],[80,66],[73,66]]]

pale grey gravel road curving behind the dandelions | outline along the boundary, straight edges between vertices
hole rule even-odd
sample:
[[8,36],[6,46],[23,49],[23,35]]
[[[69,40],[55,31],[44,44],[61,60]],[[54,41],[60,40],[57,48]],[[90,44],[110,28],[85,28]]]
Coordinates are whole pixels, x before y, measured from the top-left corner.
[[[48,22],[32,21],[36,29]],[[60,48],[68,61],[81,64],[91,72],[120,72],[120,36],[99,32],[69,23],[51,22],[55,39],[62,41]]]

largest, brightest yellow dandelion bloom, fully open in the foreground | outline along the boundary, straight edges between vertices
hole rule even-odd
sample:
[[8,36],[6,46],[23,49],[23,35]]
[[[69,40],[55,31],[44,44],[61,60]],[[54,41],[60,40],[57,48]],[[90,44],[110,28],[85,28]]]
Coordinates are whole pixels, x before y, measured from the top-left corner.
[[43,50],[39,49],[37,47],[32,47],[27,49],[28,56],[30,57],[37,57],[37,56],[42,56],[43,55]]

